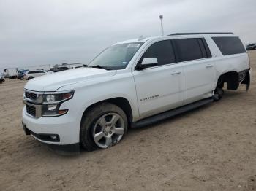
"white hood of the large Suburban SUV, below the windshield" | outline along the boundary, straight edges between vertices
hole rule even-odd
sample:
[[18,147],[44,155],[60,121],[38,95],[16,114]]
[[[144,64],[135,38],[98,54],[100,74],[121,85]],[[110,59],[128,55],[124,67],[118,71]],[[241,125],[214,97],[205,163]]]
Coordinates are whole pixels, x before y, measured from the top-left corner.
[[30,79],[24,88],[33,91],[56,91],[65,85],[84,82],[86,79],[91,78],[113,76],[115,74],[116,70],[107,71],[94,68],[70,69]]

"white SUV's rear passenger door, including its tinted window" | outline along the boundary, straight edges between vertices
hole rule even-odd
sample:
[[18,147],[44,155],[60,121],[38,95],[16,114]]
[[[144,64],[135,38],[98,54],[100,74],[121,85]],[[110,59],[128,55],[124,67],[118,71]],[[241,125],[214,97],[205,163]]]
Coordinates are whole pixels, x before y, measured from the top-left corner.
[[216,73],[204,38],[175,39],[178,61],[184,66],[184,104],[208,98],[215,89]]

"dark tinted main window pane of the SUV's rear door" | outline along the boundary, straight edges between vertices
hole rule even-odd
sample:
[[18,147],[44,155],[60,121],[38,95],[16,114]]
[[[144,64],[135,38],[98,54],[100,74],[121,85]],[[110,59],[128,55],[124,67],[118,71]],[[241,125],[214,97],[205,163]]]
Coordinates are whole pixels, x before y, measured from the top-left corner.
[[175,39],[178,50],[179,61],[192,61],[201,58],[206,58],[206,50],[201,50],[203,42],[199,42],[200,39]]

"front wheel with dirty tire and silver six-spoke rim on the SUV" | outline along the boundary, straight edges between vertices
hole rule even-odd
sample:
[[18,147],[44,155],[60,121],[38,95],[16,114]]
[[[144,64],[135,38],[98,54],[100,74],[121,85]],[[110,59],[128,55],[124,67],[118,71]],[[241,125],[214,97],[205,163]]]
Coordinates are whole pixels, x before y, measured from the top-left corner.
[[110,103],[97,104],[83,116],[80,126],[80,144],[92,151],[118,144],[127,133],[127,116]]

